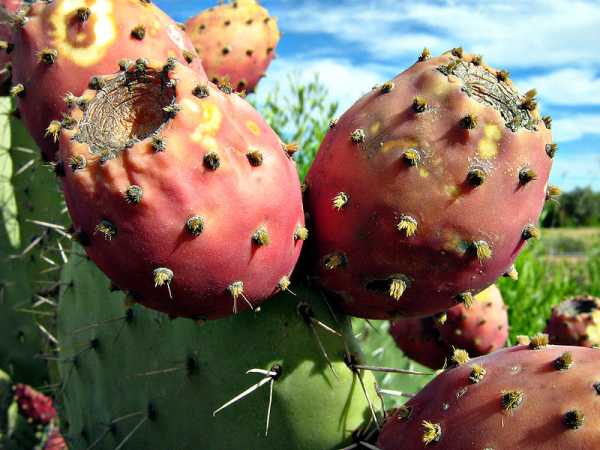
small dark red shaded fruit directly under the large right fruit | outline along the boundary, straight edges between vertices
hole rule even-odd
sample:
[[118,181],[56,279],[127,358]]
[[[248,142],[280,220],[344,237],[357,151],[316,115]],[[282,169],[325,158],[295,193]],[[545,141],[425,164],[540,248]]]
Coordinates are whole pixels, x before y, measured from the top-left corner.
[[390,334],[398,348],[410,359],[432,369],[444,367],[448,346],[442,341],[433,318],[393,321]]

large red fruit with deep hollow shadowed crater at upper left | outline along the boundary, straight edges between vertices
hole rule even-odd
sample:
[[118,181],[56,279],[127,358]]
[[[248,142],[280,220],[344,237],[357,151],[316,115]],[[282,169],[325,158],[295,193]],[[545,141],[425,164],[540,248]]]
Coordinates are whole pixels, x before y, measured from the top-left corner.
[[99,84],[60,157],[100,269],[144,306],[198,320],[287,289],[306,237],[300,182],[256,110],[172,60]]

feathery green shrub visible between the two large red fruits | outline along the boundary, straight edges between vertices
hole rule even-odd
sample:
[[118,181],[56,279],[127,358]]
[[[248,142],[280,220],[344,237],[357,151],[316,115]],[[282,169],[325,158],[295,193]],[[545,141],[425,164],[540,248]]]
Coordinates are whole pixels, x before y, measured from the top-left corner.
[[329,122],[335,117],[338,103],[328,98],[318,75],[302,84],[297,75],[291,74],[287,86],[276,86],[257,107],[284,142],[298,144],[295,159],[304,179],[329,130]]

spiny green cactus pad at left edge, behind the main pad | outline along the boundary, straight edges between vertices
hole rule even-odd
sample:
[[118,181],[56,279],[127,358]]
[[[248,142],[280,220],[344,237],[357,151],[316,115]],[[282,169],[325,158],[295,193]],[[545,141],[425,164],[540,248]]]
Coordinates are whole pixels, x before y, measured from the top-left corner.
[[0,367],[16,380],[47,380],[59,271],[67,258],[63,203],[49,167],[0,99]]

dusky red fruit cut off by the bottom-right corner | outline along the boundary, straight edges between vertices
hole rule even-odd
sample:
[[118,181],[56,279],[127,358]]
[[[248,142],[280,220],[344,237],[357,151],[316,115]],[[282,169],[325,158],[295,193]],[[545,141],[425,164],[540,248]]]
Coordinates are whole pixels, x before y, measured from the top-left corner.
[[[438,375],[390,416],[377,446],[382,450],[600,448],[599,363],[598,350],[568,346],[511,347],[472,359]],[[480,374],[477,383],[475,372]]]

